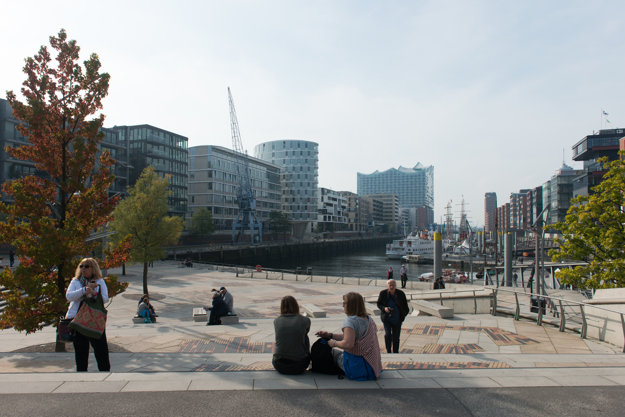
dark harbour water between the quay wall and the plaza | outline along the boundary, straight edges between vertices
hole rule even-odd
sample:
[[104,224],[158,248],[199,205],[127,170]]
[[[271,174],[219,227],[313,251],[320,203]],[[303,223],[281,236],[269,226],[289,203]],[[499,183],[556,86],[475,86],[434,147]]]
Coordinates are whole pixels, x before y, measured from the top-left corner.
[[[386,259],[385,248],[366,249],[349,255],[337,255],[324,259],[309,260],[302,262],[290,262],[276,265],[278,269],[294,270],[312,268],[313,275],[327,275],[337,277],[362,277],[372,279],[386,279],[388,267],[393,267],[394,278],[399,280],[401,260]],[[432,265],[406,264],[408,267],[408,279],[417,278],[419,275],[432,272]],[[272,265],[273,267],[273,265]]]

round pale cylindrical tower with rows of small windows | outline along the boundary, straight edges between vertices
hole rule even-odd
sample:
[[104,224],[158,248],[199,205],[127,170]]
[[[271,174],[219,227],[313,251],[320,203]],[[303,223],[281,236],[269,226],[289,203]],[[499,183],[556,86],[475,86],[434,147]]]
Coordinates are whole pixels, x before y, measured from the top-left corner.
[[274,140],[254,147],[254,156],[281,169],[282,211],[302,237],[318,216],[319,145],[306,140]]

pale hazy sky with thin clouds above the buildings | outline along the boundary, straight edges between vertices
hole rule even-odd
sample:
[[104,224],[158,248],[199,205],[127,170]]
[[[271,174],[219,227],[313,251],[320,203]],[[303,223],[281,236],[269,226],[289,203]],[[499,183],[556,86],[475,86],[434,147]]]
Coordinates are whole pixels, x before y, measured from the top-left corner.
[[501,205],[581,168],[576,142],[625,127],[623,1],[0,0],[0,15],[2,97],[64,28],[111,75],[105,127],[232,148],[230,87],[250,155],[317,142],[319,186],[352,192],[358,172],[433,165],[437,222],[464,199],[483,225],[484,193]]

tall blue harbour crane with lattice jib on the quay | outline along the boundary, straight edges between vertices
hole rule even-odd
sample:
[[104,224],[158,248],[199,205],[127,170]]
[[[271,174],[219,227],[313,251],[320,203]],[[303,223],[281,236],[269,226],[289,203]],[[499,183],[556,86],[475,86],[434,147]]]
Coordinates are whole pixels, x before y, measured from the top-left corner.
[[234,109],[234,101],[228,87],[228,102],[230,104],[230,130],[232,131],[232,150],[235,155],[235,170],[238,181],[237,203],[239,213],[232,222],[232,243],[243,241],[246,231],[249,231],[250,243],[263,241],[263,225],[256,217],[256,197],[250,181],[250,160],[247,152],[243,150],[239,122]]

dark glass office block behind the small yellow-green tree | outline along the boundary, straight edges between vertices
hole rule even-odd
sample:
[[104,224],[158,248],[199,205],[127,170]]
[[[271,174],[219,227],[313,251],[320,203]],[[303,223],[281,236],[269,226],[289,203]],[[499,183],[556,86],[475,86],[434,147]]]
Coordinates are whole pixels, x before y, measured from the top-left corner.
[[134,185],[149,165],[159,176],[169,175],[169,214],[184,219],[187,215],[188,139],[151,125],[114,126],[111,130],[118,133],[121,142],[128,144],[129,185]]

